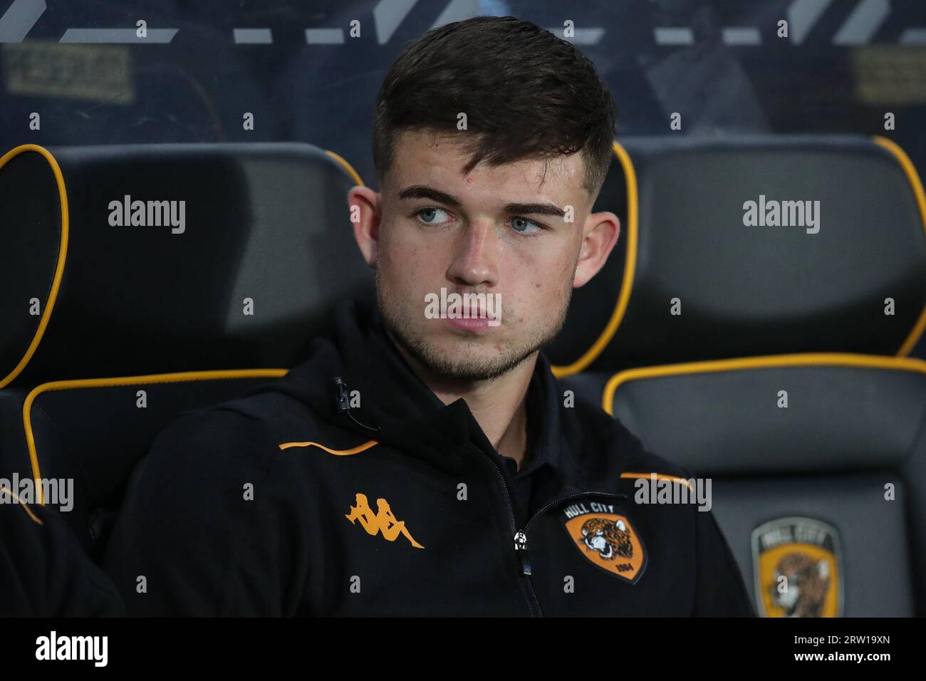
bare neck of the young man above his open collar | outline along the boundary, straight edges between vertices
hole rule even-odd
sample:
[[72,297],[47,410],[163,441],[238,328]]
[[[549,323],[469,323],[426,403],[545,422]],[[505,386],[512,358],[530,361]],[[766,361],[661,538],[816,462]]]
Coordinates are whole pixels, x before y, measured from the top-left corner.
[[400,343],[394,340],[392,343],[412,371],[444,404],[463,397],[495,451],[517,461],[519,470],[523,467],[527,449],[527,392],[537,353],[498,378],[460,381],[434,375],[418,359],[411,357]]

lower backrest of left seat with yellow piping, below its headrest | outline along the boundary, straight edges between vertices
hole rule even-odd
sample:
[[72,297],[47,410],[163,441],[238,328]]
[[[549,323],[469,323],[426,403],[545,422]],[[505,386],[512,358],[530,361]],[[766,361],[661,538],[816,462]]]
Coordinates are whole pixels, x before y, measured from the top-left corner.
[[[98,560],[131,472],[160,430],[185,411],[285,374],[285,369],[176,372],[2,390],[0,477],[72,479],[72,508],[61,516]],[[36,492],[44,503],[38,487]]]

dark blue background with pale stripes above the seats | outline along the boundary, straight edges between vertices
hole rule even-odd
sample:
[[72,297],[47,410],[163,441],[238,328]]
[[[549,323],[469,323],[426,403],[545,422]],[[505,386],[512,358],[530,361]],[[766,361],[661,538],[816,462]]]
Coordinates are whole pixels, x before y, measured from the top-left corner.
[[422,32],[475,14],[560,35],[573,21],[613,89],[619,135],[669,133],[678,111],[687,135],[887,134],[926,167],[922,0],[0,0],[0,147],[303,140],[373,183],[385,69]]

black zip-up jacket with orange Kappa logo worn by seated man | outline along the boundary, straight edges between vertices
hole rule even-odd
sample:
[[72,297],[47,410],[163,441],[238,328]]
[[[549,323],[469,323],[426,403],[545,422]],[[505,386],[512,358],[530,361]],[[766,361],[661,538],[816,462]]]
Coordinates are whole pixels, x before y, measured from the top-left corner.
[[284,378],[156,437],[106,573],[131,615],[753,615],[712,514],[621,477],[691,475],[564,390],[541,353],[516,472],[348,301]]

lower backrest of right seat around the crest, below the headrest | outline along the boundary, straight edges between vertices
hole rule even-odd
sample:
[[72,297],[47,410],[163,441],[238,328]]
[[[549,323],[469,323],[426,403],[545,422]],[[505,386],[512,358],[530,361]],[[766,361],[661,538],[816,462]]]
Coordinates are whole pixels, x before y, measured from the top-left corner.
[[774,586],[757,529],[800,517],[835,528],[837,612],[926,613],[923,360],[807,353],[628,370],[603,407],[647,448],[713,478],[713,511],[754,598]]

